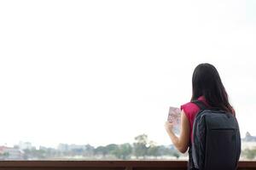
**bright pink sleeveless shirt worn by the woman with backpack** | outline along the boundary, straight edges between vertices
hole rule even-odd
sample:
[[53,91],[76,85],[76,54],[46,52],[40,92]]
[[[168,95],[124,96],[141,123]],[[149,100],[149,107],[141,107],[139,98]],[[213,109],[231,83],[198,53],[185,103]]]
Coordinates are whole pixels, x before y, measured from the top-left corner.
[[[204,102],[207,105],[207,101],[204,96],[199,97],[198,100]],[[190,124],[189,134],[190,134],[190,141],[192,141],[193,123],[194,123],[196,114],[198,113],[198,111],[200,111],[200,108],[192,102],[181,105],[180,108],[181,110],[184,111],[185,115],[189,119],[189,124]]]

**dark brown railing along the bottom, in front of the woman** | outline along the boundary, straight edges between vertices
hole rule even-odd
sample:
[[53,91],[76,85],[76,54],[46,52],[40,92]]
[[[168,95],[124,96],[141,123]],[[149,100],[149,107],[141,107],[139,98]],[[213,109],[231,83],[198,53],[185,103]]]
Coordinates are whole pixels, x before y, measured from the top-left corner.
[[[187,161],[0,161],[0,170],[186,170]],[[256,169],[240,161],[239,170]]]

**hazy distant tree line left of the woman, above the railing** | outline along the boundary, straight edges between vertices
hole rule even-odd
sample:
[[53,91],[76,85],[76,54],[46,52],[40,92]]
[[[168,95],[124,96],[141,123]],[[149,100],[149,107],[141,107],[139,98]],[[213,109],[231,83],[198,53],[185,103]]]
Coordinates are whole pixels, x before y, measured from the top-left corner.
[[[163,159],[165,156],[181,156],[172,145],[157,145],[148,139],[147,134],[135,137],[133,144],[108,144],[94,147],[85,144],[83,147],[70,147],[67,150],[35,147],[22,150],[22,160],[65,160],[65,159],[90,159],[90,160],[129,160],[129,159]],[[8,160],[9,154],[5,153],[0,159]]]

